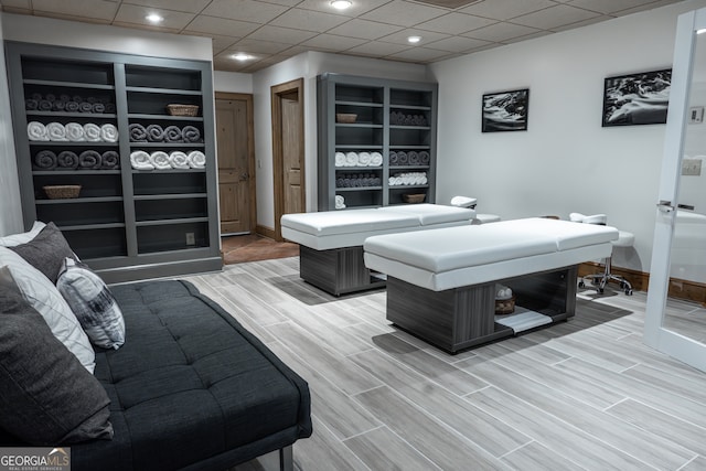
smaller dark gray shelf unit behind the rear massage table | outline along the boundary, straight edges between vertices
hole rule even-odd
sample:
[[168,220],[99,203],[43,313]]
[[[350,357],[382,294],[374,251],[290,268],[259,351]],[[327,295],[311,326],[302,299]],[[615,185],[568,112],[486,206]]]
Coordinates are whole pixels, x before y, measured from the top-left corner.
[[[319,211],[335,208],[342,195],[346,208],[405,204],[403,195],[425,193],[434,203],[436,194],[436,83],[394,81],[324,73],[317,81],[319,131]],[[424,116],[424,126],[391,124],[391,114]],[[336,122],[336,114],[356,114],[355,122]],[[428,152],[428,164],[392,165],[391,151]],[[336,167],[335,152],[379,152],[379,167]],[[427,183],[389,185],[397,173],[425,172]],[[340,188],[336,180],[350,174],[379,176],[379,185]]]

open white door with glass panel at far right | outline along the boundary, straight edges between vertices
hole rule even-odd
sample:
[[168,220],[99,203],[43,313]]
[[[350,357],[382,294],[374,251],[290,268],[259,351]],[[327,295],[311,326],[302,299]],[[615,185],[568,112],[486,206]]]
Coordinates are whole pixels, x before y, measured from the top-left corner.
[[706,9],[680,17],[644,342],[706,372],[706,308],[670,297],[671,290],[706,283],[705,32]]

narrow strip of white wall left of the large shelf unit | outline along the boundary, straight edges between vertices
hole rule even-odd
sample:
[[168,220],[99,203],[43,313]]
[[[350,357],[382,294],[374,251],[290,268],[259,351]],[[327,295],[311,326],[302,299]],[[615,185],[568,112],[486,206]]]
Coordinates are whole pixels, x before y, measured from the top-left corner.
[[[3,35],[0,21],[0,41]],[[0,47],[0,109],[3,110],[0,113],[0,236],[24,229],[7,76],[4,47]]]

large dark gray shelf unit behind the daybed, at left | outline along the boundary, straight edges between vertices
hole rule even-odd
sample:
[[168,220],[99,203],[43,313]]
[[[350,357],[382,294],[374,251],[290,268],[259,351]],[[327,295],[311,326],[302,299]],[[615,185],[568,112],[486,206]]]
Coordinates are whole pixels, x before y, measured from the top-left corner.
[[[35,220],[53,221],[108,282],[222,268],[210,63],[19,42],[6,42],[6,57],[25,227]],[[115,111],[25,109],[33,94],[90,97],[114,104]],[[169,116],[165,106],[172,103],[197,105],[199,116]],[[29,121],[109,122],[118,128],[118,141],[31,141]],[[203,142],[131,142],[132,122],[194,126]],[[38,170],[33,159],[42,149],[115,150],[120,165]],[[135,171],[135,150],[200,150],[207,163],[205,169]],[[42,190],[47,184],[81,184],[82,191],[77,199],[49,200]]]

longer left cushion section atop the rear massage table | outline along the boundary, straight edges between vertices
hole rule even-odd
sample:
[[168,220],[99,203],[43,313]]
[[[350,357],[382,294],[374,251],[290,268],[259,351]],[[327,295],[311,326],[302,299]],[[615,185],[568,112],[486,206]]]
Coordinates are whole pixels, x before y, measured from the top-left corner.
[[319,213],[285,214],[281,225],[318,237],[338,234],[367,233],[416,227],[419,220],[413,214],[371,210],[324,211]]

